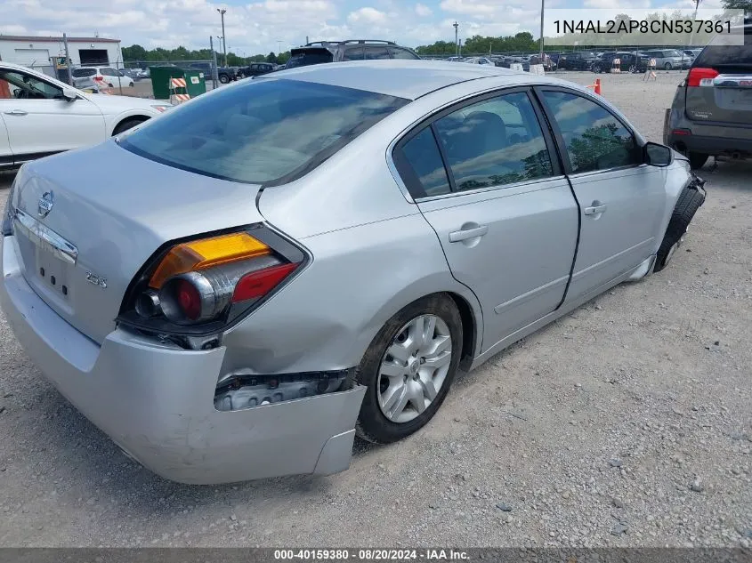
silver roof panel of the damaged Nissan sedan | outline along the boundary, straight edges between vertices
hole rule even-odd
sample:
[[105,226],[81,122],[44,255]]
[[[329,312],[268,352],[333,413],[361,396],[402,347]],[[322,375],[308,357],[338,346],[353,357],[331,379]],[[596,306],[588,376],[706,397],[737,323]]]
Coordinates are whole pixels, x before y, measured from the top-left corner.
[[354,60],[310,65],[280,70],[273,75],[263,75],[255,80],[290,78],[304,82],[343,86],[365,90],[407,100],[470,80],[505,76],[510,85],[569,84],[549,76],[530,75],[527,72],[491,65],[458,65],[442,60]]

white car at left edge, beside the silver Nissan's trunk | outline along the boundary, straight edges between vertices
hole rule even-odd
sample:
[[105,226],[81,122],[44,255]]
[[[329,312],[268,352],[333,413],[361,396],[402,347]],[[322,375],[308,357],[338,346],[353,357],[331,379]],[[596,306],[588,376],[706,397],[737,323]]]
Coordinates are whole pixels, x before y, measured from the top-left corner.
[[88,94],[0,61],[0,169],[97,144],[171,107],[155,100]]

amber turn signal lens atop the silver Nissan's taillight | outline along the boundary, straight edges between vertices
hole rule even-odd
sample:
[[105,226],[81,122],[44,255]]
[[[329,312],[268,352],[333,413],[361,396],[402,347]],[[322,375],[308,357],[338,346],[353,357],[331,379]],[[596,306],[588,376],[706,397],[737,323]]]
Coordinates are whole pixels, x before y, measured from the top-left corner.
[[246,232],[182,243],[173,246],[165,258],[159,262],[149,280],[149,286],[159,289],[170,277],[179,274],[247,260],[268,253],[271,253],[269,246]]

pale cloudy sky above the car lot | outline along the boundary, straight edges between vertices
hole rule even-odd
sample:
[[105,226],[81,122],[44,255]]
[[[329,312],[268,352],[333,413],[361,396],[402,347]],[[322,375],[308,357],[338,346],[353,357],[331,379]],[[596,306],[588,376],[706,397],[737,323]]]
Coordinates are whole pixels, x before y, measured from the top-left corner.
[[[703,0],[716,6],[720,0]],[[551,8],[663,8],[691,0],[546,0]],[[0,34],[112,37],[197,49],[221,36],[226,9],[228,52],[242,56],[287,51],[314,40],[388,39],[415,47],[459,36],[538,36],[540,0],[0,0]]]

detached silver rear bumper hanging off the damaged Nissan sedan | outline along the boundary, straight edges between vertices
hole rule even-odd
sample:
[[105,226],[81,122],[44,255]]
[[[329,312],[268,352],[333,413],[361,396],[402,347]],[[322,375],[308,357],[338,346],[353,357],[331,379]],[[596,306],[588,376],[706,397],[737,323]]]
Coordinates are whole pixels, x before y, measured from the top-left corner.
[[166,479],[216,484],[344,471],[365,388],[222,412],[225,349],[182,350],[117,329],[101,347],[26,283],[2,241],[0,304],[28,357],[125,452]]

